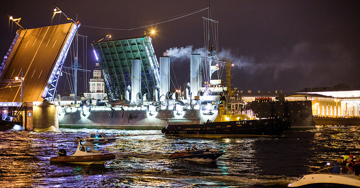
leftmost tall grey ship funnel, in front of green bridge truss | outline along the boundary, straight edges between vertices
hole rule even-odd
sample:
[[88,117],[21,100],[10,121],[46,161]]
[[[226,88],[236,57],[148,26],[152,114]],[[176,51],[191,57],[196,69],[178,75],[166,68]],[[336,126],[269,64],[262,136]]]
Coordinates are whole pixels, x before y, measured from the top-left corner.
[[[141,96],[140,90],[141,90],[141,60],[133,59],[131,60],[131,103],[132,104],[135,105],[140,104],[140,100],[139,100],[139,96]],[[140,93],[140,95],[138,93]]]

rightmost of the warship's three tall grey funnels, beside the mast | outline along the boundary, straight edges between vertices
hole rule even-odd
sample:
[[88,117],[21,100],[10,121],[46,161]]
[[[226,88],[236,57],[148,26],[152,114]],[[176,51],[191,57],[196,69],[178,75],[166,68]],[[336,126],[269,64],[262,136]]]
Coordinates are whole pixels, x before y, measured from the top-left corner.
[[191,98],[194,99],[198,95],[201,84],[201,55],[192,54],[190,57],[190,92]]

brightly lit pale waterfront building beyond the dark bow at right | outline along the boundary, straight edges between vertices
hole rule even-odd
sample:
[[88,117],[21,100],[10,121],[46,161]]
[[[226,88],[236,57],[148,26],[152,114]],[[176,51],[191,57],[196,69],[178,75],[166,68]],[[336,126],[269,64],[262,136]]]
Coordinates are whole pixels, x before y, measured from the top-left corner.
[[[271,97],[278,100],[279,93],[287,101],[312,101],[312,114],[322,117],[360,117],[360,87],[338,84],[334,87],[305,88],[295,94],[282,91],[239,91],[245,102],[255,101],[257,97]],[[280,95],[281,96],[281,95]],[[280,99],[281,100],[281,99]]]

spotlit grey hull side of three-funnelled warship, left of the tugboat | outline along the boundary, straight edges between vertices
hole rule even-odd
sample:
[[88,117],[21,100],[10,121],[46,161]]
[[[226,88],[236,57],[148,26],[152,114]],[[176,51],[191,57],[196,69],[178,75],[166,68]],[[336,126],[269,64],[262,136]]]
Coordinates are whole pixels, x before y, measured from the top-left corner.
[[[140,108],[140,107],[139,107]],[[120,107],[66,108],[59,113],[60,128],[89,129],[127,129],[127,130],[161,130],[167,124],[202,124],[208,119],[215,119],[217,111],[206,115],[199,109],[173,111],[159,109],[149,112],[146,109],[121,109]]]

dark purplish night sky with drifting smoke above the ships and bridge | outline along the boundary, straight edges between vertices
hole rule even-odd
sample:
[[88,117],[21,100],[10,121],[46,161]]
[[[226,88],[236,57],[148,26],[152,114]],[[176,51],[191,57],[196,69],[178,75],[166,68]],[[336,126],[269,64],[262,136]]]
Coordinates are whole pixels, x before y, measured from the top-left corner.
[[[174,69],[171,77],[176,87],[189,82],[189,56],[204,47],[202,17],[208,17],[208,10],[146,28],[132,28],[201,10],[208,7],[207,0],[3,0],[0,5],[0,55],[6,54],[19,28],[15,23],[12,26],[11,22],[9,26],[6,14],[21,17],[19,23],[24,28],[45,27],[51,24],[54,3],[68,17],[75,20],[77,16],[81,23],[79,34],[88,36],[85,45],[79,38],[79,62],[85,61],[82,58],[85,46],[88,69],[93,69],[96,63],[90,45],[92,41],[108,34],[113,40],[139,37],[144,31],[156,28],[156,35],[152,38],[157,58],[166,50],[178,50],[178,54],[168,55],[186,53],[181,58],[170,56],[170,69],[171,72]],[[231,70],[234,74],[232,83],[238,90],[282,90],[289,93],[306,87],[332,87],[339,83],[359,86],[360,1],[213,0],[210,7],[211,19],[219,21],[219,56],[227,55],[235,64]],[[63,15],[60,18],[56,15],[52,24],[67,22]],[[69,66],[70,61],[68,56],[64,66]],[[58,93],[67,90],[68,83],[63,80],[59,83]],[[84,86],[79,90],[83,92]]]

